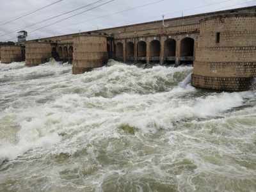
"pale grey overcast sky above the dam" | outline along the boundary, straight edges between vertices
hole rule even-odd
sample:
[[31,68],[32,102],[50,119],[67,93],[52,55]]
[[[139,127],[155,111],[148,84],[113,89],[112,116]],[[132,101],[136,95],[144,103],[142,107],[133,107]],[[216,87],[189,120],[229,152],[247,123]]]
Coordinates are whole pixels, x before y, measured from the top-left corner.
[[[16,40],[15,36],[17,34],[15,32],[13,33],[13,31],[20,30],[26,30],[28,33],[30,31],[28,38],[33,39],[159,20],[162,15],[165,15],[167,19],[180,17],[182,12],[183,15],[193,15],[195,13],[213,12],[216,10],[227,10],[231,8],[256,5],[256,0],[113,0],[113,2],[100,6],[99,8],[95,8],[89,12],[64,20],[63,22],[59,22],[53,26],[42,28],[68,16],[83,12],[84,10],[93,8],[101,3],[110,1],[102,0],[100,3],[83,8],[83,10],[78,10],[77,12],[72,12],[67,15],[63,15],[62,17],[26,28],[26,26],[36,24],[44,19],[48,19],[49,17],[60,15],[61,13],[65,13],[97,1],[63,0],[60,3],[54,4],[44,10],[33,13],[32,15],[1,25],[8,20],[15,19],[20,15],[32,12],[56,1],[58,0],[1,0],[0,41],[10,40],[11,38],[14,38],[12,40]],[[143,6],[148,3],[152,4]],[[138,6],[141,7],[136,8]],[[127,9],[129,9],[129,11],[113,15],[113,13]],[[104,15],[106,16],[100,17]],[[38,28],[42,29],[34,31]]]

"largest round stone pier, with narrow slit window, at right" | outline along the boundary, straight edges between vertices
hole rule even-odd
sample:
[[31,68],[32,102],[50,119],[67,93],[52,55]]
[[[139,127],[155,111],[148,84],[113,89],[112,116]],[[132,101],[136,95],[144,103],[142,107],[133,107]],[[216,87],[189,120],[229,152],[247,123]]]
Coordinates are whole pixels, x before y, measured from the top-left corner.
[[193,86],[249,90],[256,77],[256,15],[209,17],[200,22]]

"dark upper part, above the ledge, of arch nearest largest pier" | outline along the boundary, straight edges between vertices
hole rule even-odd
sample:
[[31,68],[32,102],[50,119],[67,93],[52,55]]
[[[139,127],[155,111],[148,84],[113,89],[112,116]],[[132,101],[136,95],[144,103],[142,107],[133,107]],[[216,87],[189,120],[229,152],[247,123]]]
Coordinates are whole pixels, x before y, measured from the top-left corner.
[[180,56],[193,57],[194,56],[195,40],[190,37],[186,37],[180,42]]

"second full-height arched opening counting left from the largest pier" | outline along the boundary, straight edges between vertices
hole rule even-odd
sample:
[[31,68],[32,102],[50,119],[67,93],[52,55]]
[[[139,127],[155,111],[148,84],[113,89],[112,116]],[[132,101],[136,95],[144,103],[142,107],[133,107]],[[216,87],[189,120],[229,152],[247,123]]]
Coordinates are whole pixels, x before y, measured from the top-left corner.
[[164,42],[164,61],[168,64],[175,63],[176,41],[169,38]]

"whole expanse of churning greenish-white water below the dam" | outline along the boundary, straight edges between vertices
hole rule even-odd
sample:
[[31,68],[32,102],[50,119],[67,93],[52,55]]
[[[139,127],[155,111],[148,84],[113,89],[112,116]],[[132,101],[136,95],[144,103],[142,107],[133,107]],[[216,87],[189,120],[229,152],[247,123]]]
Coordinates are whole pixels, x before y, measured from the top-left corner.
[[0,64],[0,191],[255,192],[256,92],[192,69]]

